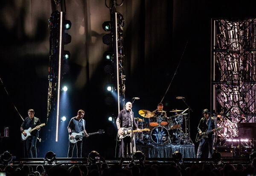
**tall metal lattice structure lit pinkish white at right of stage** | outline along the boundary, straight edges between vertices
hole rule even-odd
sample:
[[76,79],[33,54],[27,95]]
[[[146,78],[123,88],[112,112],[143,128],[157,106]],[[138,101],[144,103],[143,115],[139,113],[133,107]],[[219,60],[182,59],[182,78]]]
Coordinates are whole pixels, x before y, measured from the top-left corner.
[[[256,122],[256,19],[212,19],[212,112],[220,142]],[[223,145],[223,143],[222,143]]]

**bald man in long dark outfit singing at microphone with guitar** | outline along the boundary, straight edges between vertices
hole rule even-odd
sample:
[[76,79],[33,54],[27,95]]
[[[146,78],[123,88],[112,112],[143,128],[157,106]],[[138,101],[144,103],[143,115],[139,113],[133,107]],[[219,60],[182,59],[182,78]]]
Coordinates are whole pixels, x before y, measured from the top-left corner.
[[[125,104],[125,109],[121,110],[118,114],[118,117],[116,119],[116,126],[119,134],[124,134],[121,128],[129,128],[132,125],[134,130],[139,130],[139,132],[141,132],[141,130],[138,128],[136,124],[136,121],[134,119],[134,114],[131,108],[132,108],[131,102],[127,102]],[[133,136],[133,139],[131,139],[132,136]],[[136,148],[135,148],[134,135],[127,136],[121,139],[119,157],[131,157],[131,153],[135,151],[136,151]]]

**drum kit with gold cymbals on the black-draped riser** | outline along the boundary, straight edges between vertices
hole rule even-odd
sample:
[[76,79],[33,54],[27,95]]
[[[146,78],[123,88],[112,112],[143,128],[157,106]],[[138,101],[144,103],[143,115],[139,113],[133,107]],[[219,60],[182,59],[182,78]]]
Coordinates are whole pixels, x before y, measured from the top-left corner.
[[[170,117],[166,116],[166,111],[153,111],[153,113],[148,110],[138,111],[139,115],[143,117],[143,119],[135,118],[138,128],[149,128],[150,131],[136,133],[136,142],[143,144],[180,144],[185,141],[187,133],[182,131],[183,128],[186,128],[188,115],[184,114],[185,111],[177,109],[169,111],[175,113]],[[184,124],[183,120],[185,121]]]

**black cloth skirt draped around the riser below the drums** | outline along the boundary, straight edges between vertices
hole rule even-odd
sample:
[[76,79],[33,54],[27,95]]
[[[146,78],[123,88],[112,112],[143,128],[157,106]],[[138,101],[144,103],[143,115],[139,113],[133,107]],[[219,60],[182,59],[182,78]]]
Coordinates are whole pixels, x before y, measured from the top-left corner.
[[172,153],[179,151],[183,158],[195,158],[195,145],[136,145],[146,158],[171,158]]

